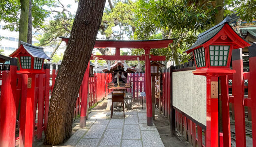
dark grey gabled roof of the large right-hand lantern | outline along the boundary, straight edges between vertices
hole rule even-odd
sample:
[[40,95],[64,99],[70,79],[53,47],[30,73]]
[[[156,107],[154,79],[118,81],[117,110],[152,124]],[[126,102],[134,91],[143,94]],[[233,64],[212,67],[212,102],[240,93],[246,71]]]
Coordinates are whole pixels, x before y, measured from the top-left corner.
[[[233,30],[233,28],[229,25],[229,22],[231,22],[231,19],[229,17],[226,17],[219,24],[215,25],[214,27],[208,29],[203,33],[200,33],[198,35],[196,42],[192,45],[192,47],[190,47],[188,50],[184,52],[190,53],[193,51],[193,49],[204,47],[204,45],[205,44],[208,45],[208,43],[214,43],[214,41],[218,38],[215,38],[215,39],[213,38],[217,36],[218,33],[223,29],[227,30],[229,33],[235,36],[235,37],[229,37],[229,38],[233,41],[233,43],[236,43],[238,45],[238,48],[244,48],[246,46],[249,46],[250,44]],[[224,27],[224,26],[227,26],[227,27]],[[241,43],[238,44],[235,39],[239,40]]]

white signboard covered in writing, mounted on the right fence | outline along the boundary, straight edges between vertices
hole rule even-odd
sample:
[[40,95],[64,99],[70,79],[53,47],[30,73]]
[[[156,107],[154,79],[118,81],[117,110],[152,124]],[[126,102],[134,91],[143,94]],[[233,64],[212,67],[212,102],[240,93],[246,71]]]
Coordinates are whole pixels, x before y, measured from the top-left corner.
[[172,73],[173,106],[206,126],[206,77],[192,71]]

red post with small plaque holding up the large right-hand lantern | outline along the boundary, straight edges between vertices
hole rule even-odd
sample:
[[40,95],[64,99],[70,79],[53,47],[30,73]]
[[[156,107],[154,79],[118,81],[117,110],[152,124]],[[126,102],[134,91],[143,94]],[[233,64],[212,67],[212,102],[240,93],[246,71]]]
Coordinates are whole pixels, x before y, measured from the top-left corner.
[[218,77],[206,76],[206,80],[206,147],[218,147]]

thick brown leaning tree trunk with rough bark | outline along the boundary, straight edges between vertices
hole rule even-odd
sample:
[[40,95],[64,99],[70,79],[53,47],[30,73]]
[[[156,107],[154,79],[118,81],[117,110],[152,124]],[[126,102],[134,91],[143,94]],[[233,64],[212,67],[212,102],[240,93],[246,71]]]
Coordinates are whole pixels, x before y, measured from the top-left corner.
[[70,39],[51,97],[44,144],[71,136],[74,107],[89,62],[106,0],[79,0]]

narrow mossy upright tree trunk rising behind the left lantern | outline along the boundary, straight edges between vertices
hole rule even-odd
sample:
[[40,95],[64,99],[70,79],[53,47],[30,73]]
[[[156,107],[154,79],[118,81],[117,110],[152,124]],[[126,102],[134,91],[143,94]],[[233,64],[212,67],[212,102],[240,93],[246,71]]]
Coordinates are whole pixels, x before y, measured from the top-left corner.
[[21,2],[21,15],[20,15],[20,27],[19,27],[19,46],[20,46],[20,41],[27,42],[30,0],[20,0],[20,2]]

